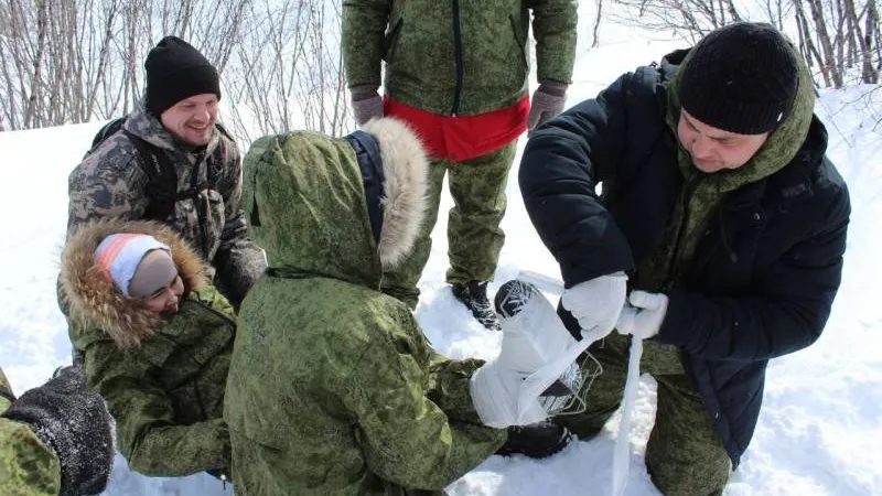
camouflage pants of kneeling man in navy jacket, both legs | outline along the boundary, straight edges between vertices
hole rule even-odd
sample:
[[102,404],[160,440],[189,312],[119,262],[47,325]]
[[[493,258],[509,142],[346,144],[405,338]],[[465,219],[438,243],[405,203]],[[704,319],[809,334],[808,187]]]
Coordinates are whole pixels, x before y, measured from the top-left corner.
[[[603,366],[578,414],[556,422],[579,438],[600,432],[622,401],[627,373],[630,338],[613,333],[589,351]],[[653,484],[667,496],[722,494],[732,471],[729,454],[699,393],[686,376],[678,348],[644,343],[641,371],[658,382],[658,410],[646,445],[646,468]]]

